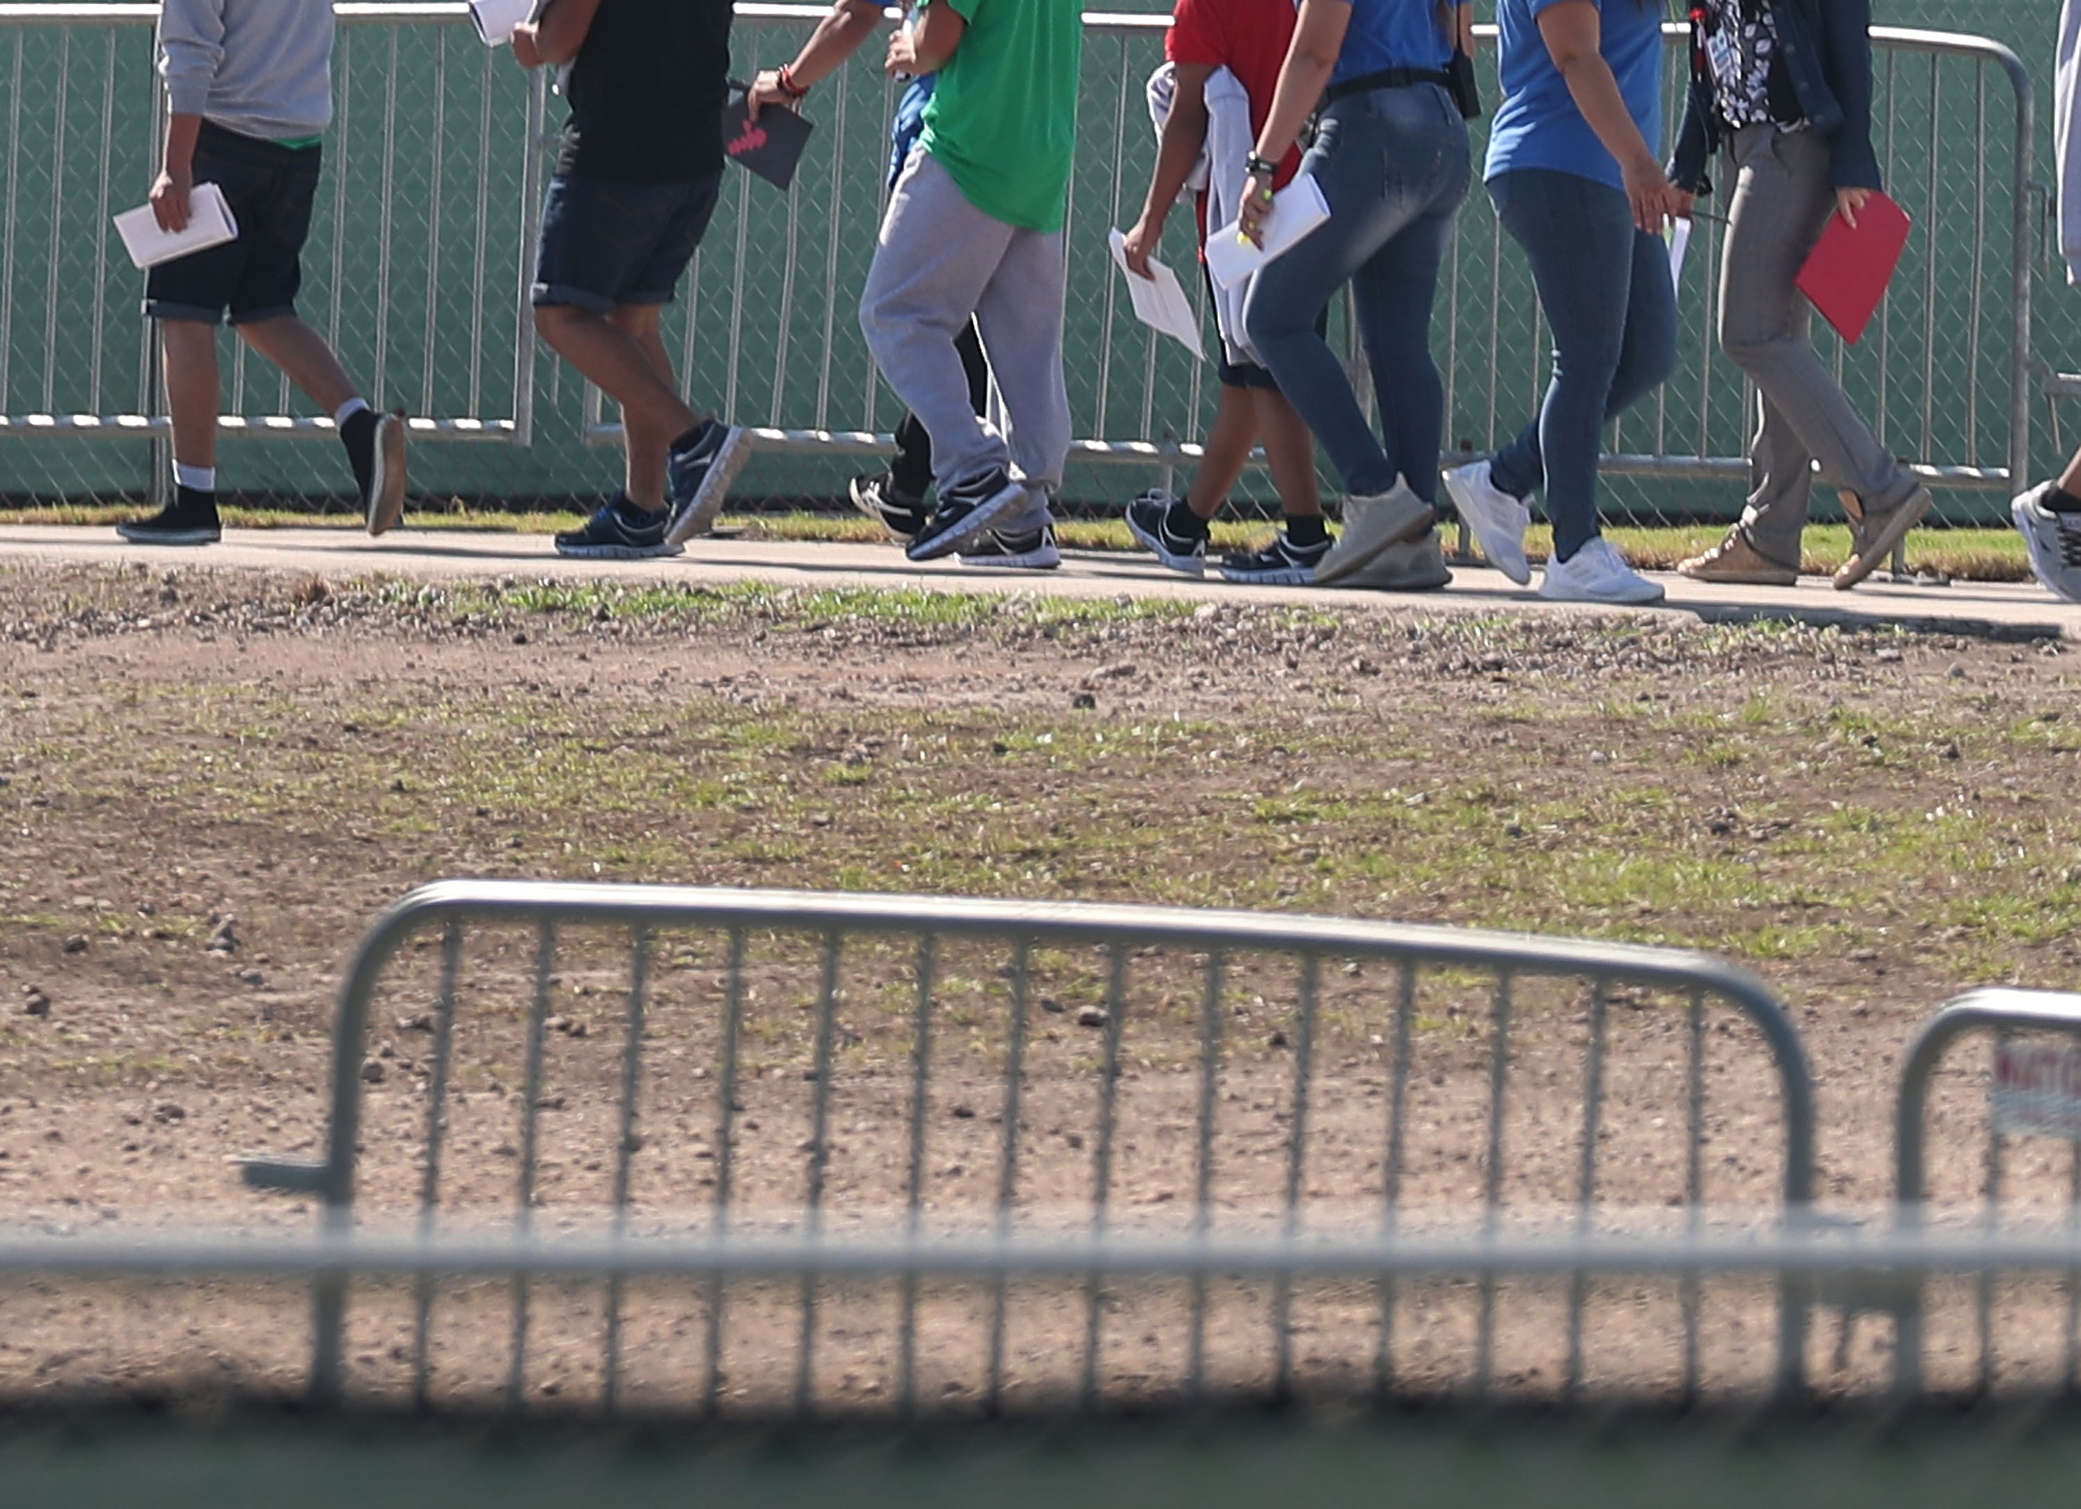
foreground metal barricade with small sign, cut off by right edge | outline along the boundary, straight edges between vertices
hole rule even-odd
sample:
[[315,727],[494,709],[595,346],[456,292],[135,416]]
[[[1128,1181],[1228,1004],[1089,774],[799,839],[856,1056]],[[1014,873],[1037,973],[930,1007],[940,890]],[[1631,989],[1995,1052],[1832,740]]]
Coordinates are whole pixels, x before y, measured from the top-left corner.
[[[1992,1074],[1985,1078],[1985,1111],[1971,1105],[1971,1091],[1979,1076],[1969,1070],[1952,1072],[1950,1095],[1937,1095],[1939,1068],[1952,1047],[1964,1037],[1985,1037],[1994,1047]],[[2062,1043],[2060,1049],[2031,1047],[2033,1041]],[[1937,1145],[1937,1168],[1929,1157],[1931,1109],[1946,1116],[1946,1136]],[[1967,1132],[1973,1124],[1985,1126],[1985,1136]],[[2050,1136],[2073,1147],[2064,1157],[2019,1159],[2008,1151],[2010,1136]],[[1900,1070],[1900,1101],[1894,1126],[1894,1178],[1898,1199],[1898,1226],[1908,1234],[1921,1234],[1931,1220],[1948,1213],[1971,1218],[1977,1232],[1994,1243],[2006,1236],[2004,1222],[2012,1226],[2012,1201],[2021,1199],[2039,1218],[2058,1218],[2058,1230],[2069,1243],[2081,1241],[2081,995],[2054,991],[1971,991],[1948,1001],[1908,1045],[1906,1062]],[[1942,1205],[1933,1199],[1933,1184],[1942,1174],[1950,1174],[1956,1184],[1975,1172],[1977,1159],[1977,1218],[1969,1201],[1950,1199]],[[1992,1392],[2002,1380],[2000,1334],[2025,1332],[2035,1347],[2019,1351],[2035,1353],[2027,1359],[2037,1365],[2031,1380],[2041,1388],[2075,1392],[2081,1388],[2081,1263],[2064,1274],[2039,1276],[2037,1290],[2010,1295],[1998,1303],[1996,1272],[1973,1274],[1971,1322],[1952,1326],[1952,1340],[1944,1345],[1944,1355],[1956,1355],[1960,1363],[1942,1380],[1952,1390]],[[2014,1286],[2012,1286],[2014,1288]],[[1915,1278],[1894,1299],[1898,1305],[1898,1338],[1894,1359],[1894,1382],[1902,1397],[1919,1397],[1925,1390],[1925,1359],[1929,1353],[1929,1295],[1927,1284]],[[1956,1320],[1956,1318],[1954,1318]],[[1971,1374],[1962,1372],[1967,1357],[1967,1334],[1971,1332]],[[2056,1363],[2048,1355],[2048,1340],[2054,1340]],[[2014,1370],[2016,1361],[2010,1361]]]

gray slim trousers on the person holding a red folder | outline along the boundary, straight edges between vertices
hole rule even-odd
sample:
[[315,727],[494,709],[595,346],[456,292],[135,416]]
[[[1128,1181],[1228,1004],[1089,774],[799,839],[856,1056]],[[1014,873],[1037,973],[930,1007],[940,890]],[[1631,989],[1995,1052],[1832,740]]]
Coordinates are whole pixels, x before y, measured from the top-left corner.
[[1756,383],[1763,410],[1748,447],[1742,533],[1763,556],[1798,566],[1800,531],[1821,475],[1875,508],[1915,491],[1810,341],[1813,306],[1794,279],[1835,212],[1827,137],[1748,125],[1733,133],[1740,171],[1719,275],[1719,343]]

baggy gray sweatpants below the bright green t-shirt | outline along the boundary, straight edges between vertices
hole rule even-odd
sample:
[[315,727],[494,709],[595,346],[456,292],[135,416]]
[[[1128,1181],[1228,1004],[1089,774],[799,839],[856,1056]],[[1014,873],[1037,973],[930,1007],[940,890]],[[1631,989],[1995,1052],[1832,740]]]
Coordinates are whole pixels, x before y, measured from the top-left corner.
[[[1070,454],[1063,293],[1061,231],[1024,231],[984,214],[924,148],[911,152],[859,296],[859,329],[889,387],[932,437],[943,493],[993,468],[1047,491],[1061,487]],[[970,406],[953,350],[970,314],[991,362],[986,418]]]

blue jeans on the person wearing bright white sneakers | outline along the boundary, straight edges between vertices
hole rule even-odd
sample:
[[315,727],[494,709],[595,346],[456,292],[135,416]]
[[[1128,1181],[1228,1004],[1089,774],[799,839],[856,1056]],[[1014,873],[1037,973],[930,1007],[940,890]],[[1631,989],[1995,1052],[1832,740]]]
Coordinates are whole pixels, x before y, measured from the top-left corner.
[[1540,416],[1496,452],[1490,477],[1517,497],[1546,487],[1555,556],[1596,539],[1596,462],[1604,425],[1677,364],[1669,248],[1634,225],[1621,189],[1575,173],[1515,169],[1488,181],[1496,219],[1525,250],[1555,333]]

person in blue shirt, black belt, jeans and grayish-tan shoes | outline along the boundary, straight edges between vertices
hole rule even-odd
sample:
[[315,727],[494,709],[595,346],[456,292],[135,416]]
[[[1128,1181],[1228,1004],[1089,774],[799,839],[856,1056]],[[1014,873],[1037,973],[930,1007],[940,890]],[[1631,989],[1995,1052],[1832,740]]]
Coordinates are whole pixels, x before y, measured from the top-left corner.
[[[1438,268],[1467,198],[1467,123],[1450,67],[1471,27],[1465,4],[1301,0],[1249,160],[1240,223],[1261,239],[1280,158],[1321,104],[1301,173],[1321,189],[1330,221],[1257,273],[1242,314],[1251,343],[1344,483],[1344,529],[1317,552],[1317,583],[1365,570],[1436,522],[1444,383],[1430,325]],[[1321,310],[1344,283],[1384,435],[1373,433],[1321,335]]]

